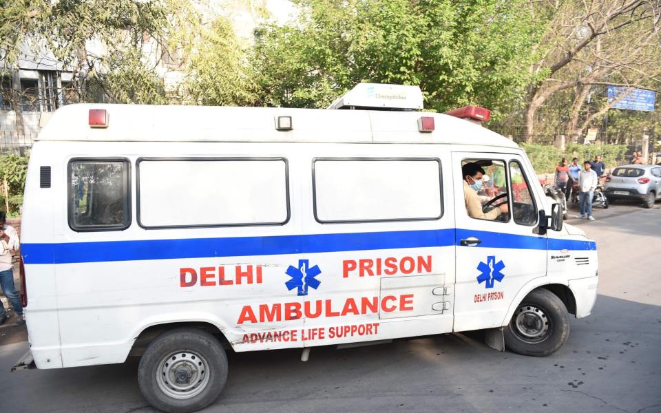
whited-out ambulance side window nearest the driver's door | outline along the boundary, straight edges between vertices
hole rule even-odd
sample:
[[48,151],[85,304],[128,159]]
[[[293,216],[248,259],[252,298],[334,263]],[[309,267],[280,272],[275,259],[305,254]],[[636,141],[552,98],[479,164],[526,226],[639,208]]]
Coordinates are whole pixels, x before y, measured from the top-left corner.
[[443,215],[437,158],[317,158],[317,222],[437,220]]

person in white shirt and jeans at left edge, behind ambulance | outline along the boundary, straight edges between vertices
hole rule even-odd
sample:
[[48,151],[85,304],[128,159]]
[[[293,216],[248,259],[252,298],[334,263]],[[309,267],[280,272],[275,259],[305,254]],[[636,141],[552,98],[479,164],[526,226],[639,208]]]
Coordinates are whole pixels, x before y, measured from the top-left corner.
[[[14,265],[12,264],[12,250],[18,251],[19,235],[16,230],[7,225],[7,215],[0,211],[0,288],[18,316],[14,326],[20,326],[23,321],[23,306],[21,298],[14,288]],[[4,304],[0,302],[0,324],[5,324],[9,316]]]

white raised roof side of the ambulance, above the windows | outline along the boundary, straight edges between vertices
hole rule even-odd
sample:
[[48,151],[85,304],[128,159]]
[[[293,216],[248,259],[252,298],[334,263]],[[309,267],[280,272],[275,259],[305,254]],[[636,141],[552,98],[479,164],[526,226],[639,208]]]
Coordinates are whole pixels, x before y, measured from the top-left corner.
[[[107,111],[107,127],[90,127],[90,109]],[[276,130],[278,116],[291,116],[293,129]],[[421,116],[434,117],[434,131],[419,131]],[[454,143],[518,147],[468,120],[430,112],[111,104],[61,107],[37,140]]]

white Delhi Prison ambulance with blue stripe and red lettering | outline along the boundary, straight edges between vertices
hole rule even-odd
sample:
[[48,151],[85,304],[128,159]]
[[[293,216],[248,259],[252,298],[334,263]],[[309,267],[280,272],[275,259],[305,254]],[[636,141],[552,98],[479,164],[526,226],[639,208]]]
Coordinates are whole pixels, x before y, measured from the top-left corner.
[[[563,225],[523,149],[419,87],[328,109],[67,105],[34,143],[19,368],[123,363],[165,412],[213,403],[226,352],[485,330],[552,354],[591,313],[596,243]],[[462,167],[485,171],[468,215]]]

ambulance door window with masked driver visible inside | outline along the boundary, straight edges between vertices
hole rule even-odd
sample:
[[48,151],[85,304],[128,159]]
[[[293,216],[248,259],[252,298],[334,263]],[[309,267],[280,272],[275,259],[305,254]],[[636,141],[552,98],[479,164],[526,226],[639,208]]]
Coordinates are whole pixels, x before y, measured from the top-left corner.
[[461,162],[466,213],[476,220],[509,222],[505,161],[465,159]]

